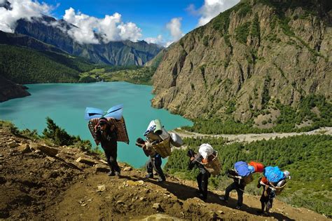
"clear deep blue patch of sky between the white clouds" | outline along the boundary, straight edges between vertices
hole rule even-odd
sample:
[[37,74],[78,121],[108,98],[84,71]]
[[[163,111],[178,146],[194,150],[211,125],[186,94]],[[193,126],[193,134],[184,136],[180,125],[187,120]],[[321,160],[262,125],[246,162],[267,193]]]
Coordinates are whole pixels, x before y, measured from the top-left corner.
[[182,18],[181,29],[184,33],[190,32],[198,25],[199,15],[193,15],[186,8],[194,4],[200,8],[203,0],[167,0],[167,1],[137,1],[137,0],[46,0],[47,4],[60,4],[53,14],[62,18],[64,11],[74,8],[81,13],[104,18],[105,15],[120,13],[123,22],[134,22],[142,29],[143,39],[146,37],[166,35],[166,24],[172,18]]

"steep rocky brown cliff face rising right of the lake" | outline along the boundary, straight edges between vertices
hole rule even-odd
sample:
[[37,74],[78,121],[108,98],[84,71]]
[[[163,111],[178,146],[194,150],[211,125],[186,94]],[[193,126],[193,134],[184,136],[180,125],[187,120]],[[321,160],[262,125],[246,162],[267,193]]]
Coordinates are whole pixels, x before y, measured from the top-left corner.
[[153,106],[244,122],[277,100],[331,100],[331,15],[329,1],[241,1],[169,48]]

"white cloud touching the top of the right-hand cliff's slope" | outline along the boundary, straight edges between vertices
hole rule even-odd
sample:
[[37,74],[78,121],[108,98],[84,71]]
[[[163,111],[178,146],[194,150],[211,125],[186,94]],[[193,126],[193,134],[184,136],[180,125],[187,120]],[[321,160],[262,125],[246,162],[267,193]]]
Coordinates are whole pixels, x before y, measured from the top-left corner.
[[239,2],[240,0],[205,0],[204,5],[197,11],[193,5],[188,6],[188,11],[193,14],[198,13],[201,16],[200,20],[198,20],[198,26],[202,26],[216,17],[216,15],[219,15],[219,13],[226,11]]

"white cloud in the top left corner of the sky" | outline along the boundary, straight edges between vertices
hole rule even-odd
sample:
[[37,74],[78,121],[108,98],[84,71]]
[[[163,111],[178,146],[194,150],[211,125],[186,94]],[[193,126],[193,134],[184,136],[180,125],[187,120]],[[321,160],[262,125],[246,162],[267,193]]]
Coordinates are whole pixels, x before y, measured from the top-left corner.
[[[48,15],[53,10],[53,6],[45,3],[39,3],[32,0],[9,0],[11,10],[0,7],[0,30],[3,32],[15,31],[16,22],[20,19],[31,20],[32,17],[40,18],[43,14]],[[0,0],[0,4],[4,4]]]

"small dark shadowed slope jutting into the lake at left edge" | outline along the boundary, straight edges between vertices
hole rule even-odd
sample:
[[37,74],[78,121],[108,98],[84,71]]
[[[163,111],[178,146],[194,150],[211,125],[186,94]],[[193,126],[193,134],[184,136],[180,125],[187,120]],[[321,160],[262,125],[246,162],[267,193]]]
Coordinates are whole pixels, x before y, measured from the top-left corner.
[[26,89],[27,87],[9,81],[0,75],[0,102],[30,95],[29,92],[25,91]]

